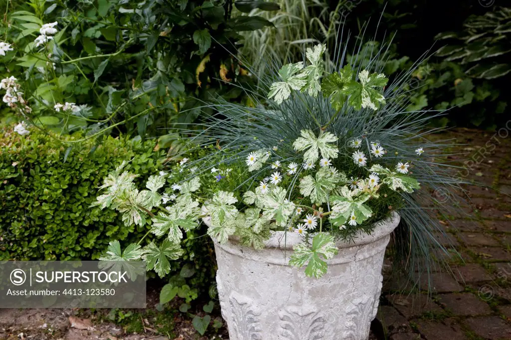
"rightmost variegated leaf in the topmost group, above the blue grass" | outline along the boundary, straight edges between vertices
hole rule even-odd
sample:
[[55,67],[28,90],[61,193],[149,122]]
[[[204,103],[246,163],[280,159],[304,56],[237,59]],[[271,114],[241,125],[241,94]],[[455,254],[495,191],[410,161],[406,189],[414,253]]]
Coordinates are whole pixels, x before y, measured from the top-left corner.
[[349,103],[356,110],[371,108],[378,110],[380,105],[385,105],[385,97],[375,87],[383,88],[388,79],[384,74],[371,74],[363,70],[358,75],[359,82],[352,81],[347,85],[346,92],[350,94]]

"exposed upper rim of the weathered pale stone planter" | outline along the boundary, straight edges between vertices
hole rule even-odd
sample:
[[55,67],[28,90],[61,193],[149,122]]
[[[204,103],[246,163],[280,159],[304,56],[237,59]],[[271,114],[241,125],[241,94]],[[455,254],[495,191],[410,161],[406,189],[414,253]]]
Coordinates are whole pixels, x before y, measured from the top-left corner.
[[[354,237],[352,242],[345,240],[338,240],[336,246],[339,249],[351,248],[362,245],[367,245],[378,241],[379,239],[389,235],[399,224],[401,216],[393,211],[392,214],[385,220],[376,222],[377,225],[372,233],[366,234],[362,231]],[[202,218],[204,224],[208,227],[211,226],[211,217],[207,216]],[[213,238],[213,237],[212,237]],[[218,244],[218,241],[213,238],[213,241]],[[312,241],[312,239],[310,239]],[[282,250],[292,250],[294,245],[301,244],[304,242],[304,238],[296,233],[288,231],[271,231],[271,236],[267,239],[264,244],[266,248],[277,248]],[[229,236],[229,244],[239,245],[238,236]],[[220,245],[222,246],[222,245]]]

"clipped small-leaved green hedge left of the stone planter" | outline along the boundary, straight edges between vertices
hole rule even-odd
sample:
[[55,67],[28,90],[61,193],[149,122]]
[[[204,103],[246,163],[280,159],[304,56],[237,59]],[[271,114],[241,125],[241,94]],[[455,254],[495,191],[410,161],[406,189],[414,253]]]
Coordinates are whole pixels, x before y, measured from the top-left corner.
[[[96,259],[113,239],[140,237],[111,210],[91,209],[120,159],[143,182],[161,168],[154,141],[108,137],[63,144],[42,132],[0,130],[0,260]],[[68,137],[73,140],[77,137]]]

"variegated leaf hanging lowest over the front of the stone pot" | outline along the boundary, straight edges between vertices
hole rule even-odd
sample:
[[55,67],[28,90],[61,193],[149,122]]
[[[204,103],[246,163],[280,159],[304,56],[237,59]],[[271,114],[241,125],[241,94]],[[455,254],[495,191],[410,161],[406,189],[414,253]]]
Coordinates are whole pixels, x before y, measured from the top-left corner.
[[318,233],[312,240],[312,246],[300,243],[293,247],[293,254],[289,264],[301,268],[307,264],[305,275],[320,278],[327,272],[326,260],[337,255],[339,250],[334,242],[334,237],[328,233]]

